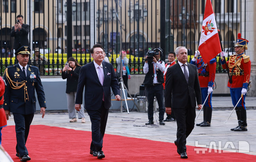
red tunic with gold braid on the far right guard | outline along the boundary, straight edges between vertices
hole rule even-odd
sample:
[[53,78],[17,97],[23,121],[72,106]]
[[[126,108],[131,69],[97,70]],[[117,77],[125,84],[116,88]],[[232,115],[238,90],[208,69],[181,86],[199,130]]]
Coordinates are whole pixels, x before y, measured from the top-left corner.
[[[228,87],[247,88],[251,72],[249,56],[246,56],[244,53],[231,55],[229,61],[227,61],[227,65],[229,67],[230,77],[232,77],[232,83],[228,82]],[[222,67],[226,69],[223,61]]]

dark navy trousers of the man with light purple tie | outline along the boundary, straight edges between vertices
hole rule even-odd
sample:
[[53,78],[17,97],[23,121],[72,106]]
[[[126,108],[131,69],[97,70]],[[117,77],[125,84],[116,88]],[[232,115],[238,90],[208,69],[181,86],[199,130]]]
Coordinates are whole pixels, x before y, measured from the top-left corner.
[[91,120],[92,142],[90,150],[92,151],[102,150],[103,136],[105,134],[107,125],[108,110],[109,109],[105,109],[103,101],[100,109],[87,110]]

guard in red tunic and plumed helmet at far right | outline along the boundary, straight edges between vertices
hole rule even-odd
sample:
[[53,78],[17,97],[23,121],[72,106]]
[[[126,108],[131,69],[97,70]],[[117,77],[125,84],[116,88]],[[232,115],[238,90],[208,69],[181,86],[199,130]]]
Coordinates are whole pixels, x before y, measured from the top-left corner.
[[[238,33],[238,39],[235,44],[236,54],[230,55],[229,61],[226,62],[228,68],[225,65],[225,60],[222,59],[221,61],[223,69],[229,69],[231,81],[228,82],[228,87],[230,88],[230,95],[234,106],[242,95],[242,99],[235,108],[238,126],[230,129],[233,131],[247,131],[245,97],[251,72],[250,56],[245,55],[248,42],[246,39],[241,38],[241,34]],[[225,53],[222,52],[221,55],[223,58]]]

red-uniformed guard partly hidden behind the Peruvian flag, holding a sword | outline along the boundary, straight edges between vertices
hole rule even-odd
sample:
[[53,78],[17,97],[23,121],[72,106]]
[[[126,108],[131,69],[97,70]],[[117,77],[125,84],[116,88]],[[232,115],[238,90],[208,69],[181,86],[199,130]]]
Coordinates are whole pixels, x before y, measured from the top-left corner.
[[212,120],[212,91],[214,86],[214,79],[216,73],[216,59],[213,58],[208,63],[204,63],[199,51],[195,52],[191,64],[197,66],[198,79],[201,87],[202,103],[209,97],[203,107],[203,122],[196,124],[196,126],[210,126]]

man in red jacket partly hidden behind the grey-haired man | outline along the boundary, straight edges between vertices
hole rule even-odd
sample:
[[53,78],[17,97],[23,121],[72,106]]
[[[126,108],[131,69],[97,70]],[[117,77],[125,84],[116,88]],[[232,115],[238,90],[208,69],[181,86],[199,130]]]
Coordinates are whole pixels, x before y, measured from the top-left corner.
[[[169,52],[169,54],[168,54],[168,63],[165,64],[164,80],[166,79],[166,71],[167,71],[167,69],[168,69],[170,66],[176,64],[175,59],[176,59],[176,54],[175,54],[175,52]],[[164,89],[165,89],[165,82],[163,83],[163,86],[164,86]],[[175,115],[174,115],[174,112],[173,112],[173,111],[171,112],[171,114],[167,114],[167,113],[166,113],[166,115],[167,115],[167,117],[165,118],[164,121],[176,121]]]

